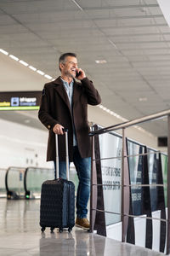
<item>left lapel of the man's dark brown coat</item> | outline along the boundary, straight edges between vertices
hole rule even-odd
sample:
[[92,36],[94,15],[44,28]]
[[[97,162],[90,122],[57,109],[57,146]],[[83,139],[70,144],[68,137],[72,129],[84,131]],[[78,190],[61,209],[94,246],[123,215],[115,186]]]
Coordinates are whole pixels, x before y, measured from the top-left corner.
[[54,90],[56,90],[59,93],[59,96],[63,99],[66,106],[69,108],[69,110],[71,112],[71,105],[70,105],[69,98],[65,91],[64,84],[63,84],[62,80],[60,78],[58,78],[58,79],[54,80],[54,84],[56,84],[56,86],[54,87]]

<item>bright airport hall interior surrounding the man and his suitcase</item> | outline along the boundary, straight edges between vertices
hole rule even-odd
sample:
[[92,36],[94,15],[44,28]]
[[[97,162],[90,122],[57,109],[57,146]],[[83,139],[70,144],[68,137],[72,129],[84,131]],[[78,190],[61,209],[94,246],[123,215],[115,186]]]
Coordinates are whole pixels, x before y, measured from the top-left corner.
[[[169,13],[169,0],[0,1],[1,256],[170,254]],[[54,162],[38,111],[68,52],[101,96],[88,104],[90,228],[43,230]],[[69,174],[77,199],[72,162]]]

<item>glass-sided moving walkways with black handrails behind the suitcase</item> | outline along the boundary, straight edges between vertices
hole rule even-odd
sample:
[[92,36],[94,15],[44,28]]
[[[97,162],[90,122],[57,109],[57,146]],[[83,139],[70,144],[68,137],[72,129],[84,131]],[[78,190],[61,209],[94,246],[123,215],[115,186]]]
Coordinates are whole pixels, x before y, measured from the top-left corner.
[[[42,183],[54,179],[54,169],[8,167],[0,175],[0,196],[7,193],[8,199],[36,199],[41,196]],[[78,178],[74,166],[70,166],[70,180],[75,183],[77,191]]]

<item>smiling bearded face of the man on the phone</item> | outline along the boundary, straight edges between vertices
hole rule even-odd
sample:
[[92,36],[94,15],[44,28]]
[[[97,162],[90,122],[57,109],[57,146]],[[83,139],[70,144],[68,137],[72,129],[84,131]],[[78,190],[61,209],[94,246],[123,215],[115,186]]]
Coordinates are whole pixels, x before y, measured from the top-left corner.
[[77,58],[67,56],[65,58],[65,63],[61,63],[59,67],[62,75],[75,78],[77,73]]

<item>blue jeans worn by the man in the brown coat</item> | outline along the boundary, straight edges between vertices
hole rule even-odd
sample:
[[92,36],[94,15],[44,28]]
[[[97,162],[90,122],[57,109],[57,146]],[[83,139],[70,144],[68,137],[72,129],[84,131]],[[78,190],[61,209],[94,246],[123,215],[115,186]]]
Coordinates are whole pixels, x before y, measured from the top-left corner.
[[[87,218],[87,207],[90,194],[91,158],[82,158],[78,151],[78,148],[73,147],[73,163],[76,167],[77,176],[79,179],[77,189],[77,217]],[[54,168],[56,169],[55,161]],[[59,177],[66,178],[65,161],[59,161]]]

